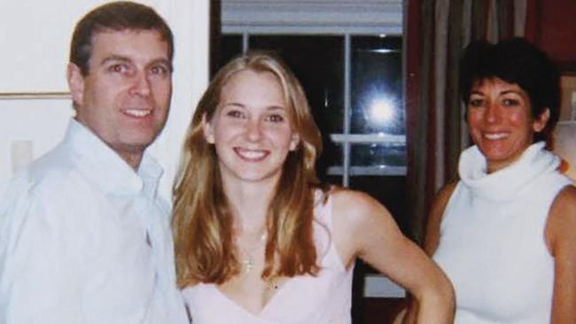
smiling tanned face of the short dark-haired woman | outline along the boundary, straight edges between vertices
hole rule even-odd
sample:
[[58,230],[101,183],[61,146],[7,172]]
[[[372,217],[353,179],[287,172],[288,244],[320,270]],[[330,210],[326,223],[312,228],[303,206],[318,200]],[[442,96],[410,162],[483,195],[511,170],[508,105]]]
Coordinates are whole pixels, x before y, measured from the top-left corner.
[[486,158],[488,173],[516,161],[549,119],[548,109],[533,119],[528,94],[498,78],[476,82],[467,109],[470,135]]

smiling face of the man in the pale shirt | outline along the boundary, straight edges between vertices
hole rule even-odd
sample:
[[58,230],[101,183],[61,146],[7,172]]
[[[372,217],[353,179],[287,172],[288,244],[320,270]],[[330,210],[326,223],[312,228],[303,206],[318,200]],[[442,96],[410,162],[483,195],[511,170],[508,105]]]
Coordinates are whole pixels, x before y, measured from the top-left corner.
[[154,30],[95,34],[88,75],[68,66],[76,120],[136,169],[166,123],[171,71],[167,42]]

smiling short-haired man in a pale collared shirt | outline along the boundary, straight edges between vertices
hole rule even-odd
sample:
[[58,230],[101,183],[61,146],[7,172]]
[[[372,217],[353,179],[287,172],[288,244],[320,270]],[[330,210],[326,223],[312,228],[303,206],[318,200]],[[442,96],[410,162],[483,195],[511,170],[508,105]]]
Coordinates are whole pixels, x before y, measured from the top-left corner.
[[105,4],[76,25],[76,116],[0,200],[0,323],[188,322],[162,171],[144,153],[166,123],[173,49],[142,4]]

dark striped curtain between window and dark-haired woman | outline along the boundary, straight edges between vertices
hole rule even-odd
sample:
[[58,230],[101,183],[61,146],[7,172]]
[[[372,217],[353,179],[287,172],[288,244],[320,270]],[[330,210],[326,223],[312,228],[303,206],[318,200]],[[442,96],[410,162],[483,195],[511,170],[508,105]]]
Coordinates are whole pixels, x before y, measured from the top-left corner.
[[408,217],[416,242],[422,242],[434,195],[456,180],[458,157],[469,146],[457,86],[463,48],[471,40],[525,35],[536,1],[407,0]]

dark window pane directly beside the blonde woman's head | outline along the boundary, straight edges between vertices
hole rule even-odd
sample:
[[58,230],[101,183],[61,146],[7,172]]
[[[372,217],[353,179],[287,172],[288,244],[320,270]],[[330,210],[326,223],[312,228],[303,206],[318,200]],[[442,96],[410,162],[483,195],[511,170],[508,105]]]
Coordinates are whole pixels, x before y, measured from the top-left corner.
[[342,133],[344,118],[344,38],[314,35],[254,35],[251,50],[274,50],[302,83],[312,114],[323,133],[323,154],[317,165],[325,178],[326,168],[341,161],[341,150],[330,134]]

